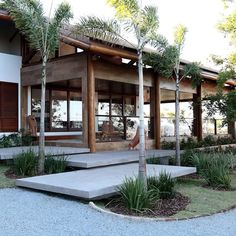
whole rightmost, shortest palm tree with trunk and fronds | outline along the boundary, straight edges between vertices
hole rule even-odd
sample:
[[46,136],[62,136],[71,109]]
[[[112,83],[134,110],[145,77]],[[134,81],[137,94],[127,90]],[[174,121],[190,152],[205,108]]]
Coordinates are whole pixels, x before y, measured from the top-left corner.
[[[162,54],[150,54],[145,57],[145,62],[152,66],[160,76],[172,78],[175,81],[175,156],[176,165],[181,165],[180,160],[180,83],[183,79],[191,79],[193,87],[201,84],[201,69],[199,63],[190,63],[180,70],[180,56],[184,46],[187,29],[183,25],[178,25],[174,32],[174,45],[166,46]],[[173,76],[174,72],[174,76]]]

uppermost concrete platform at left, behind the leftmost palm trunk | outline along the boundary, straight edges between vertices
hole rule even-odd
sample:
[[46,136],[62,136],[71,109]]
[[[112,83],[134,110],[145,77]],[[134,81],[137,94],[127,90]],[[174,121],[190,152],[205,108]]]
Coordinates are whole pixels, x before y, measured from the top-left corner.
[[[31,147],[11,147],[11,148],[0,148],[0,160],[13,159],[14,155],[32,149],[36,153],[38,152],[38,146]],[[89,148],[72,148],[72,147],[45,147],[46,155],[58,155],[58,154],[81,154],[90,152]]]

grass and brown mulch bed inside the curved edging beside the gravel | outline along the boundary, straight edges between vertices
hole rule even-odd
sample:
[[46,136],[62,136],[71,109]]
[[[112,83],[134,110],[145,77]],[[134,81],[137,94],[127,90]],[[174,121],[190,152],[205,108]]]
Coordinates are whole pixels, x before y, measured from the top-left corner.
[[[151,210],[143,213],[130,213],[117,197],[96,201],[95,204],[107,211],[122,215],[142,216],[152,218],[186,219],[223,212],[236,207],[236,191],[216,190],[205,188],[201,178],[180,178],[176,184],[177,199],[161,200]],[[236,188],[236,175],[232,175],[232,188]],[[179,195],[180,193],[181,195]],[[179,198],[179,199],[178,199]],[[113,200],[113,202],[111,202]],[[111,202],[110,204],[108,204]],[[162,204],[161,204],[162,203]],[[180,206],[177,206],[177,205]],[[159,207],[159,208],[158,208]]]

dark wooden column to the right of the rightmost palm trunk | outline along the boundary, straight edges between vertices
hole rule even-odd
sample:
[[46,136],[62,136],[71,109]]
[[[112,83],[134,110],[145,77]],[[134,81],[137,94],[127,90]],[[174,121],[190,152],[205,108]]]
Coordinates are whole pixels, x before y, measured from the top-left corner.
[[193,94],[193,135],[198,141],[202,140],[202,103],[201,85],[197,87],[197,94]]

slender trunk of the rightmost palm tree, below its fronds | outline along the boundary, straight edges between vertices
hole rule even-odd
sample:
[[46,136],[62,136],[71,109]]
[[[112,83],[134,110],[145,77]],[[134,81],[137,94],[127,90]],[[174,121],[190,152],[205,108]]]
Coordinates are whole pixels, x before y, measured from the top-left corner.
[[179,75],[176,76],[176,90],[175,90],[175,156],[176,165],[180,166],[180,137],[179,137]]

